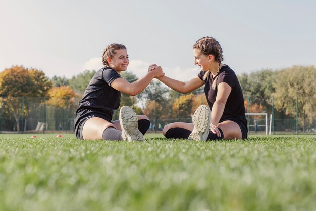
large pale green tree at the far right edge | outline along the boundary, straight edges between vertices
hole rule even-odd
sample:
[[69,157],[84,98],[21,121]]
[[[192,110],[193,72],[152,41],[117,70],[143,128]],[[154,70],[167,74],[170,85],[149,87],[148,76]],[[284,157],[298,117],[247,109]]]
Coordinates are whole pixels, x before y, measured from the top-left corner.
[[[306,125],[316,117],[316,69],[314,66],[292,66],[282,69],[276,75],[275,107],[287,115],[296,117],[296,98],[298,99],[298,118],[305,131]],[[282,100],[280,100],[282,99]]]

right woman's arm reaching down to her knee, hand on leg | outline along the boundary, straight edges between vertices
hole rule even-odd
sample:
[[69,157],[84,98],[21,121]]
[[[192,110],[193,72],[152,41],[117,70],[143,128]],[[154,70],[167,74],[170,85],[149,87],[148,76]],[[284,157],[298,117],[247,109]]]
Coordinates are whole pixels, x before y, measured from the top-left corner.
[[217,128],[217,124],[223,115],[224,108],[231,91],[232,88],[226,82],[221,82],[217,87],[216,100],[211,111],[212,117],[210,120],[210,130],[219,137],[221,136],[221,133]]

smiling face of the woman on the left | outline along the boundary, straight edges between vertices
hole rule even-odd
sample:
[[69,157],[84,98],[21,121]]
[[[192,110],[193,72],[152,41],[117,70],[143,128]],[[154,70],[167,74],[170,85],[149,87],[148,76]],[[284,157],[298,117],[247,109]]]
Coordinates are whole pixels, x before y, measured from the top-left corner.
[[129,64],[128,54],[126,49],[118,49],[111,59],[107,57],[109,67],[120,73],[121,71],[126,71]]

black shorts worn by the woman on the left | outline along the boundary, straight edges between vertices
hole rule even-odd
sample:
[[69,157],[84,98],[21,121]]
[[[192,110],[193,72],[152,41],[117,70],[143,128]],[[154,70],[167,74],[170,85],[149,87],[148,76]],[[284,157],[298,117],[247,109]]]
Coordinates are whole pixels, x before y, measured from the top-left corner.
[[82,136],[82,129],[84,123],[92,117],[99,117],[108,122],[111,122],[113,117],[113,111],[101,112],[96,110],[89,110],[89,109],[81,109],[76,114],[75,119],[75,135],[77,139],[83,139]]

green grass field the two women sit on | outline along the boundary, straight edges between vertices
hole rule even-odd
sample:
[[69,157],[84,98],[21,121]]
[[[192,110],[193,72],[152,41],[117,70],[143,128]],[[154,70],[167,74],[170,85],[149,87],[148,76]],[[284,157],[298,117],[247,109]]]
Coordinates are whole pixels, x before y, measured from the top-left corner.
[[316,210],[316,136],[0,134],[0,210]]

